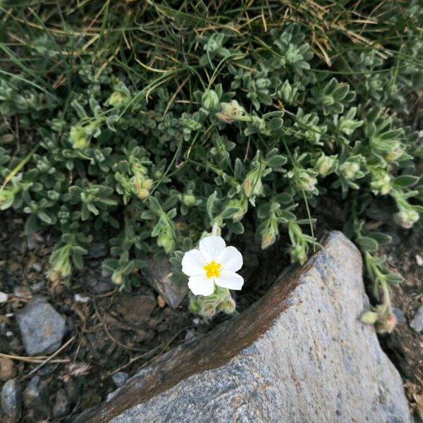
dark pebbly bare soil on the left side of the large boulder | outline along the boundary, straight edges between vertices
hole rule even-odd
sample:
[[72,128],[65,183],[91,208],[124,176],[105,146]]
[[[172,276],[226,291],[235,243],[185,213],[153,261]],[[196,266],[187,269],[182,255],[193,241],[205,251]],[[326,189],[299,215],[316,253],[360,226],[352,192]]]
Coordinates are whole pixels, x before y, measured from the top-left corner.
[[[101,259],[87,258],[86,269],[75,274],[68,286],[51,283],[48,259],[56,242],[54,235],[37,234],[28,239],[21,219],[8,219],[1,226],[0,291],[9,298],[0,304],[0,360],[10,359],[6,362],[13,362],[13,369],[6,366],[4,371],[9,375],[0,372],[0,380],[17,375],[24,389],[32,377],[41,376],[47,383],[50,409],[56,393],[65,389],[70,412],[49,421],[63,421],[96,405],[116,389],[114,374],[127,372],[131,376],[157,355],[230,318],[218,314],[212,321],[202,321],[189,311],[187,298],[172,309],[147,283],[141,283],[130,294],[121,293],[114,286],[107,286],[107,279],[99,270]],[[269,281],[288,264],[288,254],[281,250],[282,242],[263,253],[248,233],[242,240],[234,238],[232,242],[238,243],[245,257],[241,272],[246,280],[245,289],[235,298],[238,312],[242,312],[266,292]],[[100,290],[109,292],[93,292],[93,281],[102,286]],[[47,298],[66,318],[67,331],[62,343],[67,344],[66,348],[46,363],[37,357],[27,362],[13,316],[34,295]],[[79,295],[78,300],[75,295],[76,298]],[[23,409],[20,421],[39,419]]]

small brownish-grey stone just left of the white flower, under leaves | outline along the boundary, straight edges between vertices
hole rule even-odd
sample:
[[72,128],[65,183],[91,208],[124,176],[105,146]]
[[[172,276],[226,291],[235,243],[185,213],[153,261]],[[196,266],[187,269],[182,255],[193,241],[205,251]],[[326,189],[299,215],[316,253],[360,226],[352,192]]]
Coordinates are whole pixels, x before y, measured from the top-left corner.
[[186,283],[178,283],[171,278],[171,264],[167,259],[150,260],[148,266],[142,269],[142,276],[172,308],[176,309],[188,294]]

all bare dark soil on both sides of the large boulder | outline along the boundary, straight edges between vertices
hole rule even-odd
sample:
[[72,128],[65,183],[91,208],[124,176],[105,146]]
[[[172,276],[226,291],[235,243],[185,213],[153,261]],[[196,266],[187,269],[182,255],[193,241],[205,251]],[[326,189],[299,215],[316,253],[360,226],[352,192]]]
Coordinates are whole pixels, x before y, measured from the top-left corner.
[[[326,202],[322,209],[331,210],[331,214],[319,213],[317,235],[324,230],[340,229],[345,219],[337,202],[329,198]],[[70,412],[51,421],[63,421],[104,400],[116,389],[112,381],[114,374],[127,372],[130,376],[169,348],[230,318],[218,315],[213,321],[201,321],[189,312],[186,298],[180,307],[172,309],[146,283],[141,283],[130,295],[120,293],[113,286],[108,288],[99,271],[101,258],[88,258],[86,269],[76,274],[69,286],[51,283],[48,258],[56,242],[54,235],[27,238],[23,221],[11,217],[1,226],[0,290],[10,297],[0,304],[0,353],[3,354],[0,360],[11,359],[13,368],[6,367],[3,371],[9,372],[9,376],[17,375],[23,388],[33,376],[41,376],[47,383],[51,408],[57,391],[66,390]],[[417,230],[392,234],[393,243],[384,252],[393,269],[405,276],[405,282],[394,288],[392,295],[393,306],[400,317],[398,326],[390,335],[381,336],[381,344],[403,376],[412,407],[423,417],[423,334],[410,328],[410,320],[423,304],[423,267],[417,264],[417,255],[423,256],[423,237]],[[283,247],[287,243],[283,238],[278,245],[262,252],[248,228],[246,235],[233,238],[231,243],[237,245],[245,257],[242,272],[245,289],[236,298],[237,309],[242,312],[266,292],[281,269],[288,265],[288,252]],[[88,278],[106,285],[105,292],[93,291]],[[34,295],[48,298],[66,317],[67,331],[63,339],[66,348],[48,362],[37,357],[27,361],[13,317]],[[80,295],[79,300],[75,295]],[[0,379],[7,376],[0,372]],[[37,419],[24,409],[21,421]]]

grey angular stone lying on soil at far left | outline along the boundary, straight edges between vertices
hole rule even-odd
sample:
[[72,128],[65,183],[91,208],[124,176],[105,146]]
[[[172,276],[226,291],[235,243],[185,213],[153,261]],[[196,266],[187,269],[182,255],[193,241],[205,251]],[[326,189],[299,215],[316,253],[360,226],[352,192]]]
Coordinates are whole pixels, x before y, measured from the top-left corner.
[[28,355],[54,353],[65,334],[65,319],[42,297],[35,297],[16,319]]

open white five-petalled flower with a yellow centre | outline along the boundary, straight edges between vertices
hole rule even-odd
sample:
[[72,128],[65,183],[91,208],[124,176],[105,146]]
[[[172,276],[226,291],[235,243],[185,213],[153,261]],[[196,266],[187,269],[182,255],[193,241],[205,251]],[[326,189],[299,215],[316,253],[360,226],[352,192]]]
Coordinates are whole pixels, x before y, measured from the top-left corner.
[[235,272],[243,266],[243,256],[235,247],[226,247],[220,236],[200,240],[200,250],[190,250],[182,259],[182,271],[190,276],[188,286],[194,295],[212,295],[214,284],[240,290],[243,276]]

